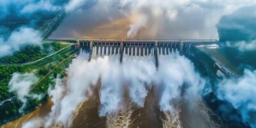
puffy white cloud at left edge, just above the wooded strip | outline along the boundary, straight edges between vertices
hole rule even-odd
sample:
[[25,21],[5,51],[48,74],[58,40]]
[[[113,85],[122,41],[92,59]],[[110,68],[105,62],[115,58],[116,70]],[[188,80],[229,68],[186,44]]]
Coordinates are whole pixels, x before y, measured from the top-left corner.
[[0,57],[12,55],[24,45],[40,44],[40,32],[33,28],[21,27],[13,31],[7,40],[0,38]]

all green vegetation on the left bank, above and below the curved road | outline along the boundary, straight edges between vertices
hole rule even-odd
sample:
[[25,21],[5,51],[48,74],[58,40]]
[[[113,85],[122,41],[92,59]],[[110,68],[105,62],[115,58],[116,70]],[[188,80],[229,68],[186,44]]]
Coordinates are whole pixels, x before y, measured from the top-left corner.
[[[57,43],[53,43],[51,45],[44,44],[43,50],[41,50],[40,48],[34,49],[36,46],[33,46],[28,50],[22,49],[22,51],[13,54],[13,56],[5,58],[5,60],[12,63],[23,63],[27,61],[38,60],[49,54],[49,52],[46,52],[49,49],[53,49],[54,51],[56,51],[66,46],[67,45]],[[49,58],[45,58],[42,61],[37,61],[36,63],[33,63],[31,65],[0,65],[0,100],[9,99],[10,97],[16,95],[15,93],[8,92],[8,83],[12,78],[12,74],[14,72],[33,72],[37,77],[40,78],[40,81],[33,85],[33,87],[31,88],[31,93],[43,95],[43,98],[37,100],[28,97],[28,104],[24,109],[24,113],[32,111],[36,108],[36,106],[42,104],[47,100],[47,90],[49,86],[54,86],[54,81],[52,80],[55,79],[58,74],[61,74],[62,77],[65,76],[65,68],[68,67],[68,65],[74,58],[72,57],[72,55],[74,55],[75,52],[76,49],[74,49],[74,47],[68,47],[67,49],[58,52],[57,54],[49,56]],[[19,56],[27,57],[23,58]],[[33,59],[31,59],[31,56],[33,56]],[[1,60],[3,60],[3,58],[1,58]],[[0,106],[0,124],[4,124],[8,120],[13,120],[15,118],[18,118],[19,116],[22,116],[22,114],[24,113],[19,113],[19,108],[21,106],[22,102],[17,98],[13,98],[12,101],[2,104]]]

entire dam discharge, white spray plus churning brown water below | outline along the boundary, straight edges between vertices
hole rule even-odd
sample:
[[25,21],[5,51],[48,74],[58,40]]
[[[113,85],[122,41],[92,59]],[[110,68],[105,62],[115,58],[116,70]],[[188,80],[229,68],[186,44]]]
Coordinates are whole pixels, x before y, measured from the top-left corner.
[[[159,56],[81,53],[67,77],[49,89],[53,105],[47,115],[29,119],[28,127],[216,127],[214,113],[196,111],[204,104],[204,81],[179,52]],[[108,48],[106,51],[108,52]],[[119,52],[116,49],[117,52]],[[202,107],[202,105],[200,106]],[[204,110],[207,106],[203,106]],[[202,108],[200,108],[202,109]],[[202,125],[198,125],[202,124]],[[38,126],[39,125],[39,126]]]

